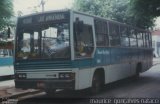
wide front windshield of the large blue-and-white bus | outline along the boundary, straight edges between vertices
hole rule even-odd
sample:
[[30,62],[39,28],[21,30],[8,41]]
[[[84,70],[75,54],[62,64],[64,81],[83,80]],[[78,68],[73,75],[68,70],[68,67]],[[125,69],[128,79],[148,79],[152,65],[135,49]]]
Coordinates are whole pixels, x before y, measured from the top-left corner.
[[70,58],[68,23],[26,25],[16,39],[18,59]]

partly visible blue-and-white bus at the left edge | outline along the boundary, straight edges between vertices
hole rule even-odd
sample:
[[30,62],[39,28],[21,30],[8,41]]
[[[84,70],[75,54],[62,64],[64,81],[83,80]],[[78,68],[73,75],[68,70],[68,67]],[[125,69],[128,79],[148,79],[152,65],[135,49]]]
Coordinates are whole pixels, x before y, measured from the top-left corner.
[[14,78],[13,44],[11,41],[0,41],[0,80]]

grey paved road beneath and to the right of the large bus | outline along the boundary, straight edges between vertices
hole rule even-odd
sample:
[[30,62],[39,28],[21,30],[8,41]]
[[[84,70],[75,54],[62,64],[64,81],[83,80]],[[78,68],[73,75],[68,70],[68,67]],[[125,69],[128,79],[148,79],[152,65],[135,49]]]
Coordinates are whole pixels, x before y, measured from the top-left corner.
[[[59,92],[56,98],[82,98],[82,97],[102,97],[102,98],[160,98],[160,64],[153,66],[150,70],[140,75],[138,80],[133,78],[109,84],[105,90],[96,96],[90,96],[86,91],[78,92]],[[43,99],[43,100],[41,100]],[[63,100],[63,99],[62,99]],[[45,101],[45,102],[43,102]],[[28,102],[28,103],[27,103]],[[38,104],[57,104],[53,97],[41,93],[32,99],[27,98],[18,104],[29,104],[38,102]],[[85,101],[79,99],[73,104],[84,104]],[[89,102],[88,102],[89,103]],[[59,104],[59,103],[58,103]]]

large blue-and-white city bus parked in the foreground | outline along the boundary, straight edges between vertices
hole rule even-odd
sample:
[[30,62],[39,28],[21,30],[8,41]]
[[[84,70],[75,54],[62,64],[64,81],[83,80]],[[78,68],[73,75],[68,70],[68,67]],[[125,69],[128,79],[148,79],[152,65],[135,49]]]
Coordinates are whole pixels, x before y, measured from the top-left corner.
[[124,23],[57,10],[18,18],[15,87],[90,89],[139,76],[152,66],[151,33]]

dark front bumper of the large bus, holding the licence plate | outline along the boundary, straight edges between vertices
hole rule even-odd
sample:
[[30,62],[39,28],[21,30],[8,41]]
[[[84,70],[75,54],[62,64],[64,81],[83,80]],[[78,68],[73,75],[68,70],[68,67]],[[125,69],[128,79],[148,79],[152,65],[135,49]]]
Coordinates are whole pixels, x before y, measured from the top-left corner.
[[15,87],[24,89],[75,90],[75,80],[15,80]]

